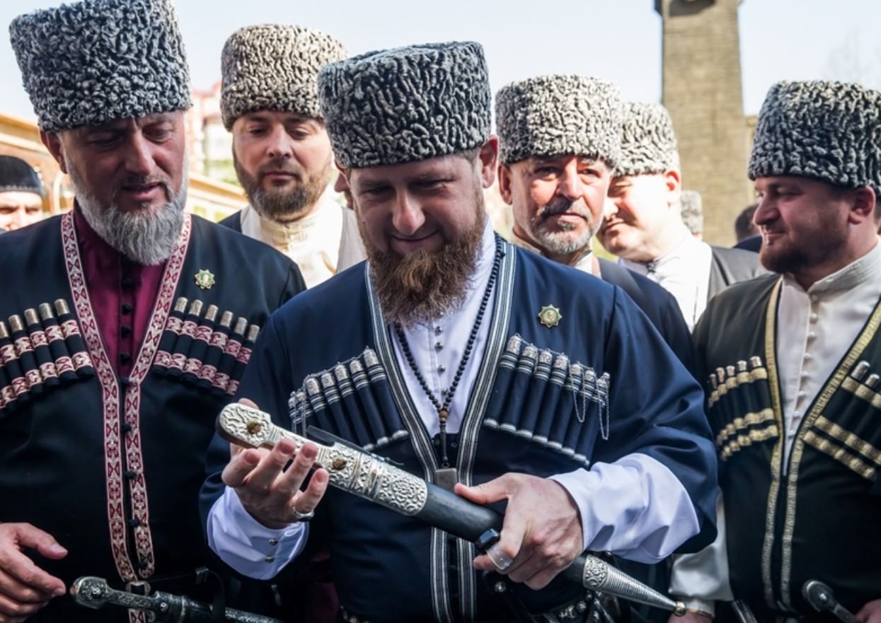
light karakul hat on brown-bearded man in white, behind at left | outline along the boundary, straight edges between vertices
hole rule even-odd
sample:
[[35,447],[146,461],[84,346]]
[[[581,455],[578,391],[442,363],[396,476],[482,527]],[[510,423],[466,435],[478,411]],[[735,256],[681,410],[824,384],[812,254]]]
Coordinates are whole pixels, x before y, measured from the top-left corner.
[[321,119],[318,70],[345,56],[338,40],[302,26],[264,24],[235,31],[221,56],[220,113],[226,129],[255,110]]

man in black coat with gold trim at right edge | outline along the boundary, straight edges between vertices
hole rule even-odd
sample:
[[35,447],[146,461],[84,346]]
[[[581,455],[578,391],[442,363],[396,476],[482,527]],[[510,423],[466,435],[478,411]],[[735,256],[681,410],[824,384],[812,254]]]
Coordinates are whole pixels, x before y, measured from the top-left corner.
[[691,623],[732,592],[760,621],[832,619],[811,581],[881,620],[879,138],[881,92],[860,84],[783,81],[762,104],[747,173],[776,274],[722,292],[694,332],[727,534],[674,566],[671,592],[706,612]]

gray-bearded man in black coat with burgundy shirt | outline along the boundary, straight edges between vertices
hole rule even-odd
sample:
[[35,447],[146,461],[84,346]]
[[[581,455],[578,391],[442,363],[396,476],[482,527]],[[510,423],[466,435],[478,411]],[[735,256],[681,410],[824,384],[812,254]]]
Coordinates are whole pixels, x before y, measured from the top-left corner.
[[304,285],[282,254],[184,212],[189,72],[171,4],[85,0],[10,32],[76,202],[0,239],[0,622],[135,621],[79,608],[70,584],[206,597],[196,494],[214,416]]

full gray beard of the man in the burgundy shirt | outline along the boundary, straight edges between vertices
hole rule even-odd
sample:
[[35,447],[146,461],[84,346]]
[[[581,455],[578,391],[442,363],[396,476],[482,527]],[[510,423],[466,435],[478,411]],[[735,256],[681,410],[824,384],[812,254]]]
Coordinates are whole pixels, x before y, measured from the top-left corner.
[[171,200],[163,208],[148,214],[123,212],[115,203],[107,207],[100,205],[93,194],[86,192],[84,181],[72,166],[70,185],[77,195],[85,222],[116,251],[143,266],[156,266],[171,257],[181,238],[186,217],[184,207],[189,185],[186,163],[181,190],[172,194],[171,188],[164,185]]

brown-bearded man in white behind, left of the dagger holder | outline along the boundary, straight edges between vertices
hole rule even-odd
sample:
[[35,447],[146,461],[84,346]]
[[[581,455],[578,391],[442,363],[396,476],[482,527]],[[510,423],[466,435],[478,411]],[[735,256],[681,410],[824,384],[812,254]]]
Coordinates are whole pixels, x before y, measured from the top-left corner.
[[355,217],[329,188],[333,154],[315,87],[322,65],[344,57],[328,34],[282,24],[240,28],[222,55],[220,112],[250,204],[220,224],[285,253],[310,288],[337,273]]

